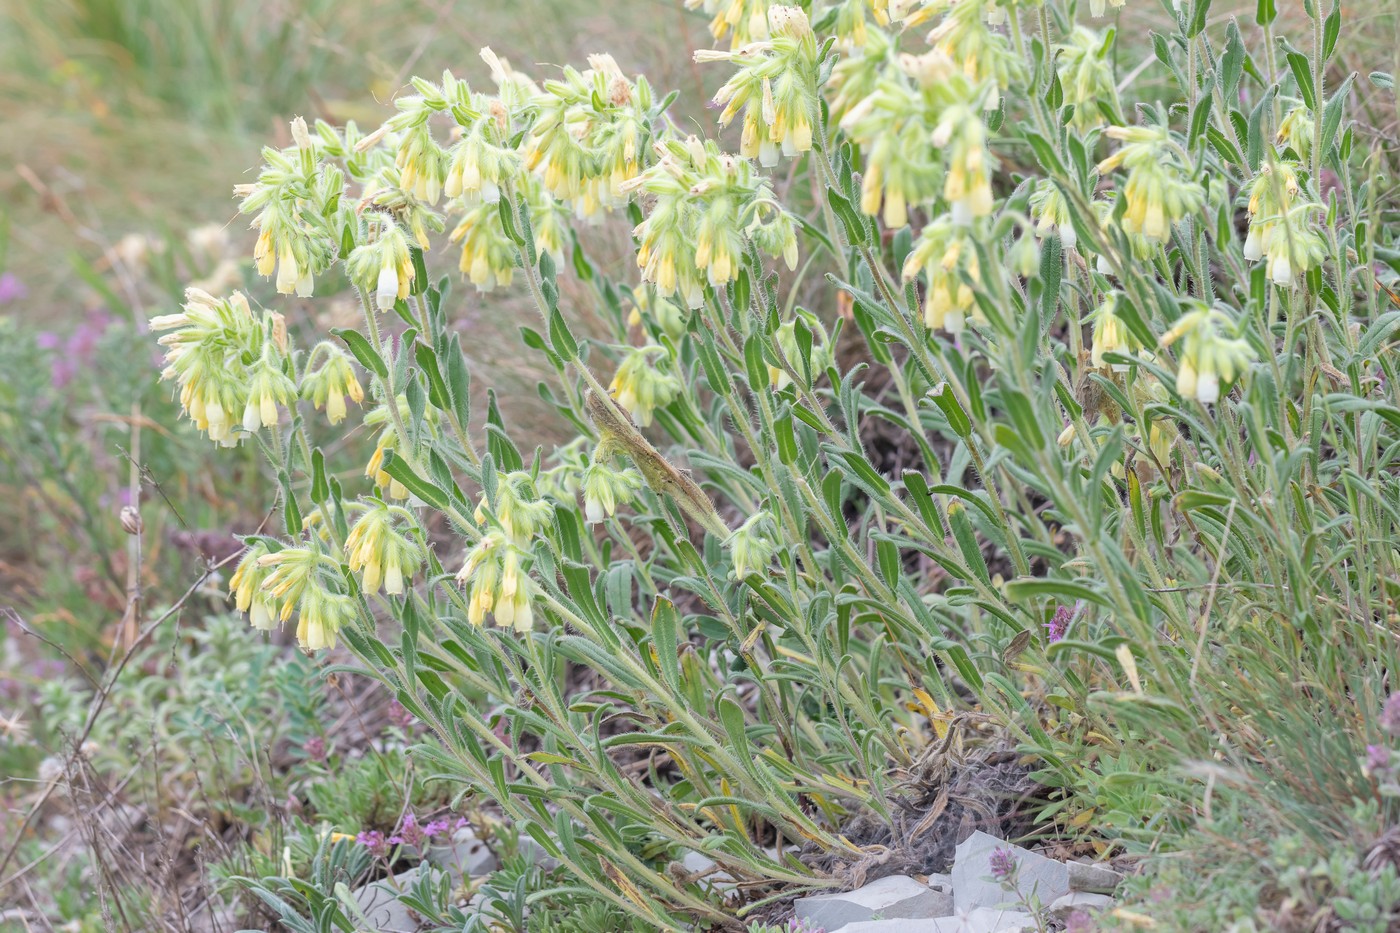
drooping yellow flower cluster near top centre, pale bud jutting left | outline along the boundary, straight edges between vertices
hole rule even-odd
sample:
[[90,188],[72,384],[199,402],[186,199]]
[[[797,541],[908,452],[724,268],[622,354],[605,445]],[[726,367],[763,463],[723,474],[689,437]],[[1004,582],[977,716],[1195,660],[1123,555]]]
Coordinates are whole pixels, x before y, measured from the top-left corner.
[[780,153],[791,157],[812,148],[816,35],[801,7],[787,6],[769,10],[769,34],[771,38],[734,52],[696,52],[694,59],[739,66],[714,98],[715,106],[724,108],[720,126],[728,126],[742,109],[739,154],[777,165]]

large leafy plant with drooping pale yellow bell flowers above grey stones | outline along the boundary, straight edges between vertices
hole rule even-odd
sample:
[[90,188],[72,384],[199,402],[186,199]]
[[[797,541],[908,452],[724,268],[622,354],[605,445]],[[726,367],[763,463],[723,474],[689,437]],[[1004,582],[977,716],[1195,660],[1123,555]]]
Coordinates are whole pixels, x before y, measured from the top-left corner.
[[[1340,11],[1291,41],[1270,0],[687,6],[710,137],[608,55],[483,49],[490,84],[298,119],[235,189],[276,297],[153,328],[195,426],[279,481],[230,586],[253,628],[346,646],[423,768],[658,929],[736,923],[686,850],[741,916],[942,867],[914,828],[998,735],[1044,832],[1350,832],[1400,314]],[[336,289],[363,319],[315,335]],[[522,300],[547,431],[472,406],[463,310]]]

